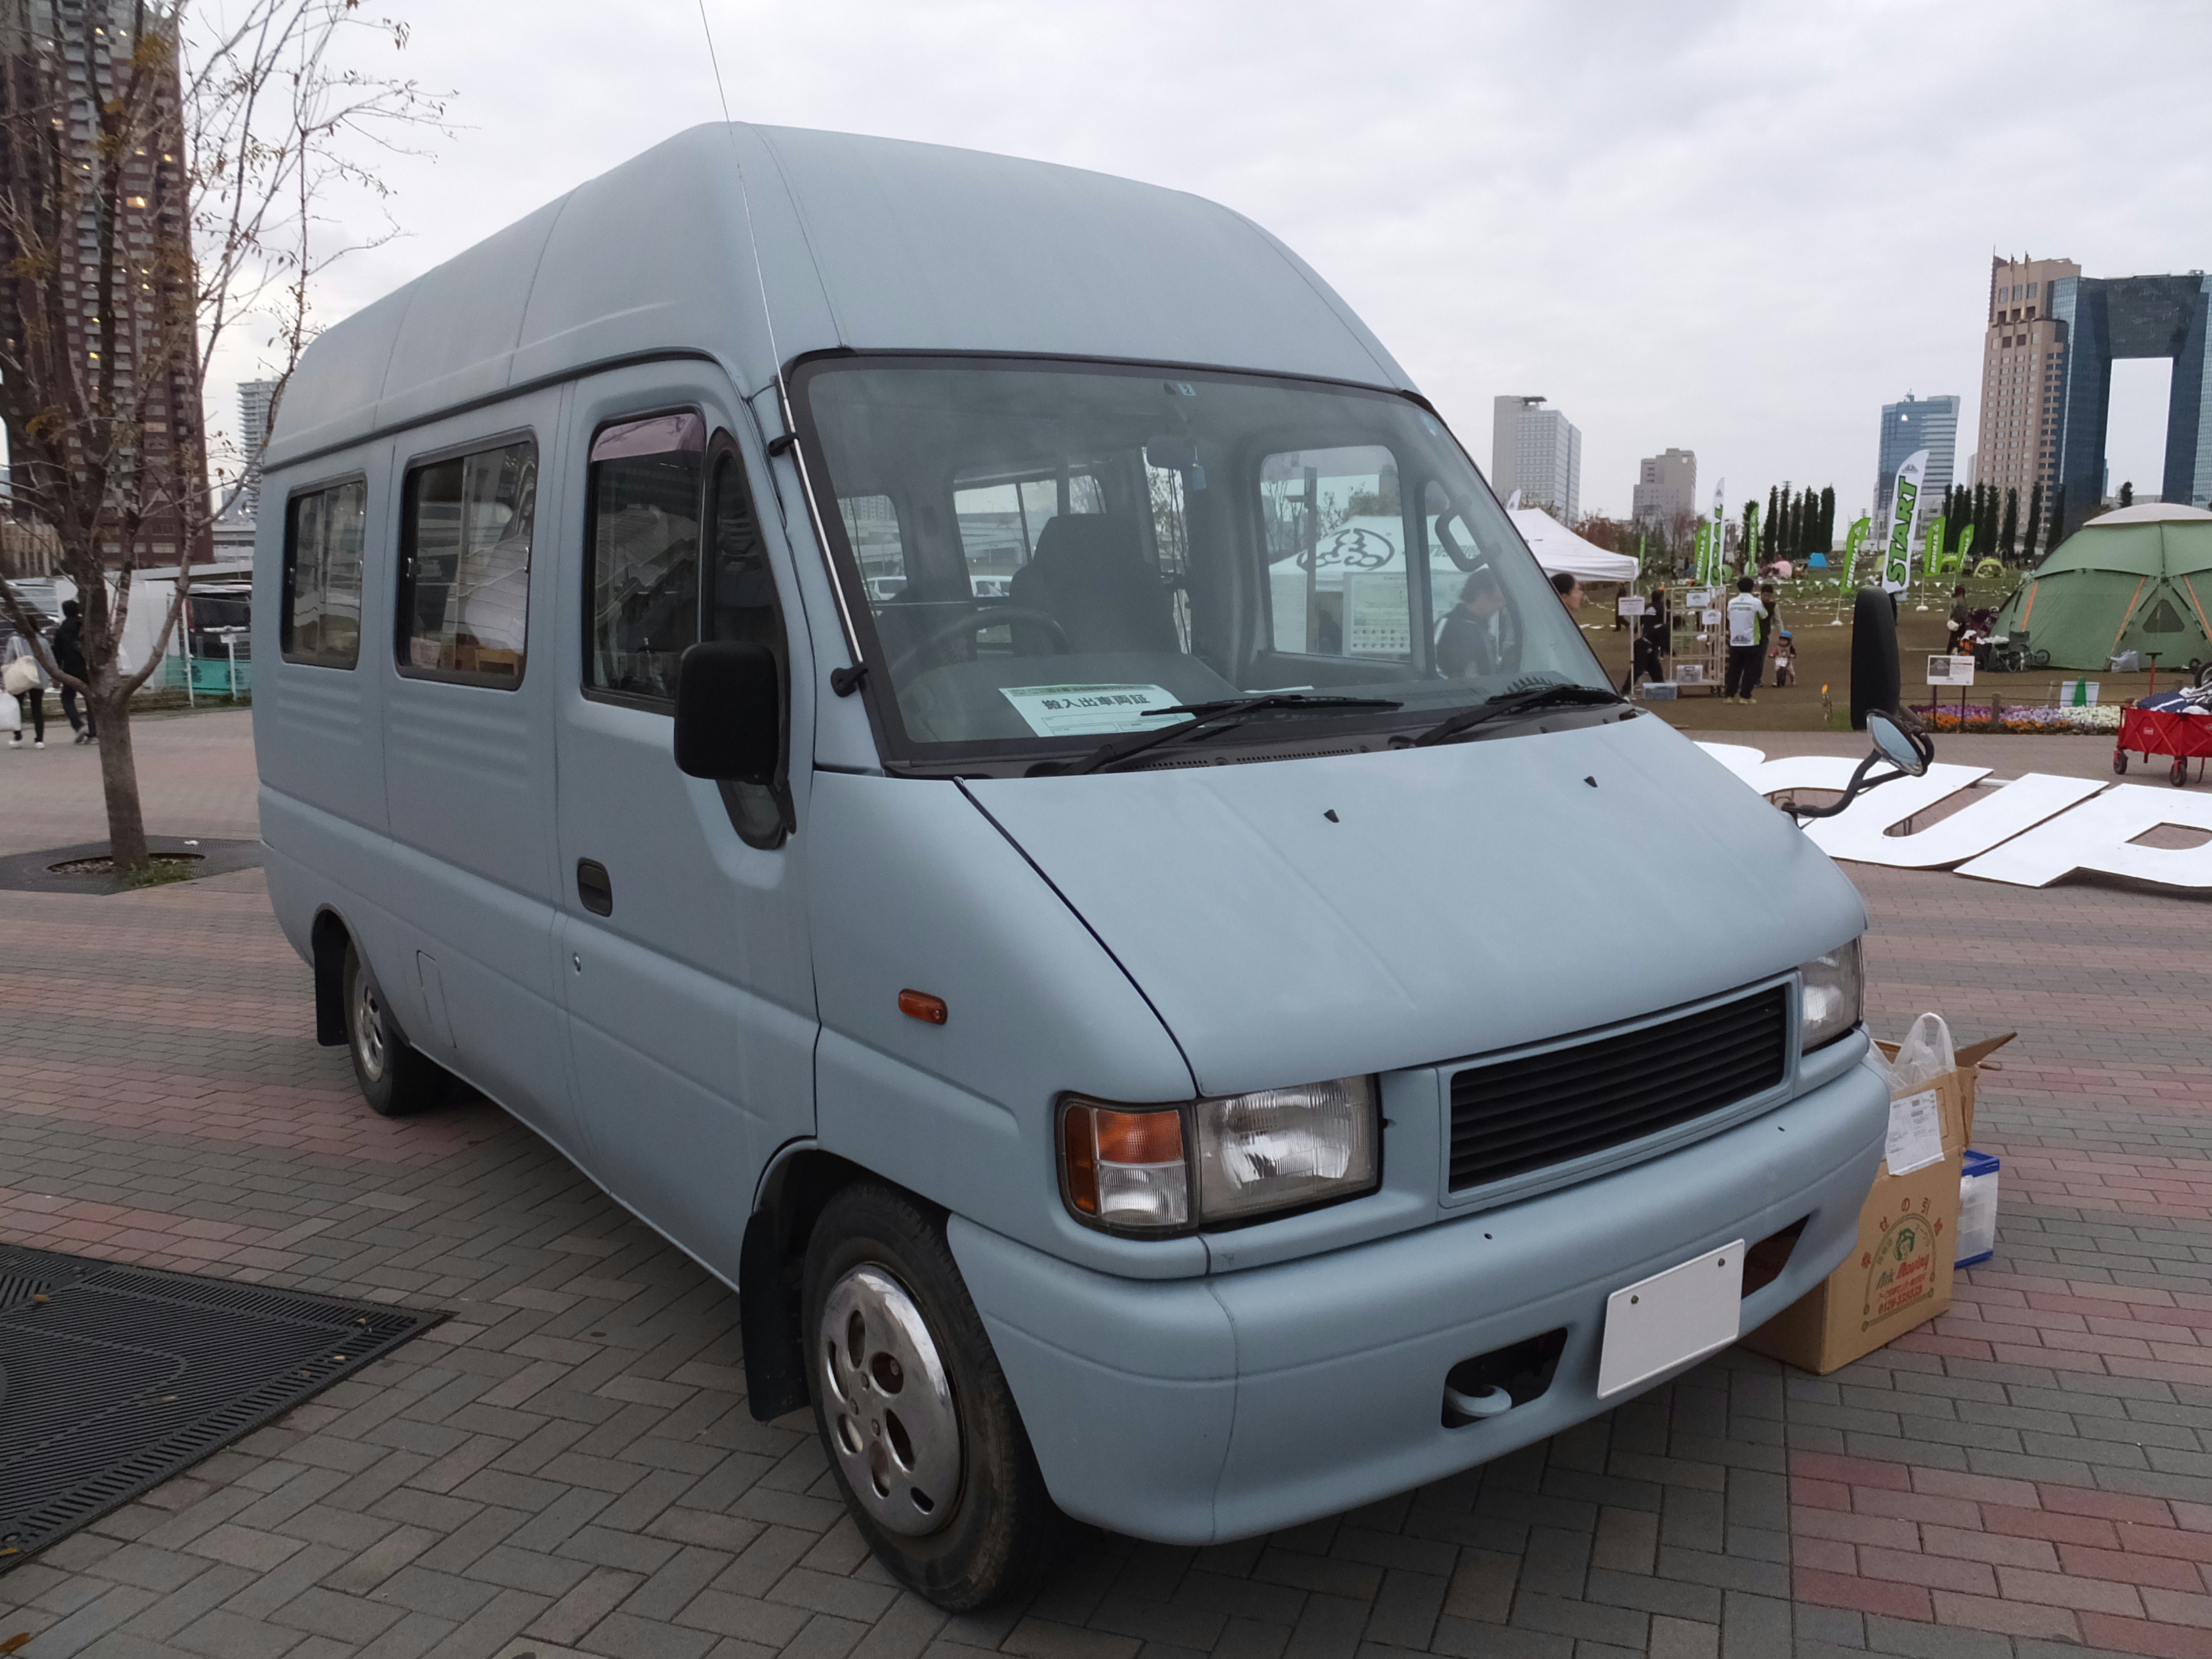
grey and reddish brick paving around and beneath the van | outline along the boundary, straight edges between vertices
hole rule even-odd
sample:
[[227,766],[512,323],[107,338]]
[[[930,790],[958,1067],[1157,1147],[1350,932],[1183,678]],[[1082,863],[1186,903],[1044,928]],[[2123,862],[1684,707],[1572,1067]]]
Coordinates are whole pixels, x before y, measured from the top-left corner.
[[[139,752],[157,830],[252,834],[243,717]],[[0,849],[97,834],[60,765],[0,790]],[[0,894],[0,1239],[451,1314],[0,1577],[0,1650],[2212,1659],[2212,911],[1849,869],[1876,1029],[2022,1031],[1944,1318],[1827,1378],[1723,1354],[1290,1533],[1091,1535],[960,1619],[867,1559],[805,1418],[752,1422],[721,1285],[495,1108],[358,1104],[257,872]]]

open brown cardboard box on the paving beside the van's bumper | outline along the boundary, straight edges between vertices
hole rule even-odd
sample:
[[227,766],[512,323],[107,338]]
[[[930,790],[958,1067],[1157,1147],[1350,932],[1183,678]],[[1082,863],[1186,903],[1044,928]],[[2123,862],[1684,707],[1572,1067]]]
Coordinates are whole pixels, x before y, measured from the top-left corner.
[[[1991,1037],[1958,1051],[1958,1068],[1891,1102],[1891,1137],[1900,1121],[1933,1110],[1942,1157],[1905,1175],[1882,1159],[1874,1190],[1858,1210],[1858,1243],[1843,1265],[1790,1307],[1743,1338],[1805,1371],[1834,1371],[1893,1336],[1924,1325],[1951,1305],[1958,1256],[1958,1197],[1973,1126],[1973,1079],[1989,1055],[2013,1040]],[[1891,1042],[1878,1044],[1896,1057]],[[1933,1102],[1927,1097],[1933,1095]]]

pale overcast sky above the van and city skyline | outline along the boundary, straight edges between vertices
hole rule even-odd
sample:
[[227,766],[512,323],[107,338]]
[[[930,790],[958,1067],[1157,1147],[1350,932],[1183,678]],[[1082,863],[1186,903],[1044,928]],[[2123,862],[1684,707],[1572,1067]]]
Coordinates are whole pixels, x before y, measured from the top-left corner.
[[[363,62],[449,88],[462,131],[385,166],[407,234],[330,272],[325,323],[721,113],[699,0],[363,9],[414,27]],[[1966,398],[1964,467],[1993,250],[2212,265],[2199,0],[706,11],[737,119],[1066,161],[1259,219],[1484,467],[1493,396],[1564,409],[1586,511],[1626,513],[1668,445],[1732,509],[1785,478],[1865,504],[1880,405],[1907,392]],[[2112,482],[2154,491],[2163,369],[2119,400]]]

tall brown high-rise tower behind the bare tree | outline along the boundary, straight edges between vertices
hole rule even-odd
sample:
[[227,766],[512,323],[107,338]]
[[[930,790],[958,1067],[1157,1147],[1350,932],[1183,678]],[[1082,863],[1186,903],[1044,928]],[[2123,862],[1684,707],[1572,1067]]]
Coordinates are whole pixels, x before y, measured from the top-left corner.
[[[95,111],[122,95],[124,82],[133,73],[157,73],[153,86],[153,122],[144,131],[144,144],[122,159],[119,199],[100,201],[91,195],[71,195],[60,188],[60,212],[64,223],[73,219],[75,234],[62,243],[60,265],[60,310],[69,361],[91,365],[97,374],[100,352],[113,349],[115,394],[124,409],[139,422],[137,460],[168,469],[181,458],[179,471],[195,480],[199,498],[206,495],[206,456],[199,416],[199,376],[190,345],[175,354],[159,372],[159,380],[139,380],[144,349],[153,338],[190,341],[192,294],[190,294],[190,226],[188,192],[184,179],[184,93],[179,84],[177,55],[139,53],[133,27],[153,7],[137,0],[0,0],[0,104],[15,122],[29,122],[22,100],[51,102],[53,139],[58,153],[31,155],[18,144],[0,146],[0,197],[9,201],[38,199],[42,208],[55,206],[60,179],[91,173],[91,159],[100,139]],[[166,20],[166,11],[161,13]],[[161,64],[144,71],[144,62]],[[135,71],[133,64],[139,64]],[[38,115],[44,117],[44,104]],[[40,119],[44,126],[44,119]],[[20,128],[29,131],[29,128]],[[51,157],[51,159],[49,159]],[[102,223],[102,208],[113,210],[113,223]],[[106,232],[106,234],[104,234]],[[126,276],[113,283],[111,299],[131,299],[128,310],[115,316],[100,316],[100,248],[113,250],[113,259],[126,261]],[[0,270],[9,261],[22,259],[24,246],[0,217]],[[46,283],[46,276],[18,281]],[[0,305],[0,336],[22,330],[24,314],[35,314],[35,305]],[[4,338],[9,354],[22,358],[27,341]],[[9,418],[11,460],[11,513],[35,515],[35,465],[33,445],[15,429],[20,409]],[[179,555],[206,557],[206,533],[199,533],[195,549],[181,549],[184,513],[161,507],[139,526],[139,560],[144,564],[175,562]],[[102,553],[119,560],[122,542],[104,542]]]

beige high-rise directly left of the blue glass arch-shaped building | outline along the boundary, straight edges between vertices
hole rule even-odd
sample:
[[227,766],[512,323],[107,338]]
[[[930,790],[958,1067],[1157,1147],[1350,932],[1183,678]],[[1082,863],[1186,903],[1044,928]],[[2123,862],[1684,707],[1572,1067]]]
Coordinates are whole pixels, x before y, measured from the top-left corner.
[[[1989,325],[1982,332],[1982,436],[1975,482],[2020,491],[2026,526],[2035,487],[2048,515],[2059,482],[2059,389],[2068,327],[2057,316],[2057,285],[2077,281],[2070,259],[1991,259]],[[2097,431],[2099,458],[2104,429]],[[2081,502],[2093,507],[2095,502]]]

